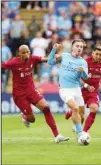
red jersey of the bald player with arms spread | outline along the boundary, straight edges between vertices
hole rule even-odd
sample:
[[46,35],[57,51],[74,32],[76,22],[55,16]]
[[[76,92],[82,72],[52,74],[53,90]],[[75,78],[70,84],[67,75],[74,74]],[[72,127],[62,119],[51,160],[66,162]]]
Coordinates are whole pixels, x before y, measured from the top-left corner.
[[13,95],[26,95],[35,88],[33,68],[37,62],[41,62],[41,57],[30,56],[27,62],[21,61],[20,57],[15,57],[2,63],[2,68],[12,70]]

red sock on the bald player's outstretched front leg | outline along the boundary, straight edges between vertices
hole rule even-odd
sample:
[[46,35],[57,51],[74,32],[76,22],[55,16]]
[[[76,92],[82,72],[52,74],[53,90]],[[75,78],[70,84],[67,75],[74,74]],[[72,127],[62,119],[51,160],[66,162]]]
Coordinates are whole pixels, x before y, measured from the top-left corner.
[[46,120],[47,124],[50,126],[54,136],[56,137],[59,134],[59,132],[58,132],[55,120],[50,111],[50,108],[48,106],[43,109],[43,114],[45,116],[45,120]]

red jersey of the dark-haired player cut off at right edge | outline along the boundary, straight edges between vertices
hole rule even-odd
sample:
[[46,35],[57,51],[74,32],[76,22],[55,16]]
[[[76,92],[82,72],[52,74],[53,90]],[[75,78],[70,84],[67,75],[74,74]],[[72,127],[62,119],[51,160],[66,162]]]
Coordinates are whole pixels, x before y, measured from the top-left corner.
[[88,63],[89,78],[85,82],[95,87],[94,92],[98,92],[99,81],[101,79],[101,62],[94,62],[92,56],[88,57],[86,61]]

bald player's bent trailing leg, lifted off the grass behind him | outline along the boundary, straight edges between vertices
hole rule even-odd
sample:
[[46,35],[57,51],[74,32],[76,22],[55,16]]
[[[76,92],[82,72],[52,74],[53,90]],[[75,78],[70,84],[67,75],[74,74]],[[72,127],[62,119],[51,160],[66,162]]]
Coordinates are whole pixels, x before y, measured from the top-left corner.
[[25,96],[14,98],[14,102],[21,110],[22,120],[26,126],[29,126],[30,122],[35,122],[35,116],[33,114],[32,108]]

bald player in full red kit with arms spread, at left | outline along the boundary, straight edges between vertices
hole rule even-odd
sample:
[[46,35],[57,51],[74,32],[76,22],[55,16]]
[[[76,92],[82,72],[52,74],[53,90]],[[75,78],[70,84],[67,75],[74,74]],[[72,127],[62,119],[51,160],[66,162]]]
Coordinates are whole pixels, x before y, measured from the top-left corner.
[[47,62],[46,58],[30,56],[30,49],[27,45],[19,47],[17,57],[2,63],[2,68],[11,69],[13,73],[13,99],[22,113],[23,121],[26,126],[35,122],[31,104],[40,109],[45,117],[46,123],[50,126],[55,141],[67,141],[68,137],[59,134],[55,120],[52,116],[48,103],[43,95],[36,89],[33,82],[33,68],[38,62]]

